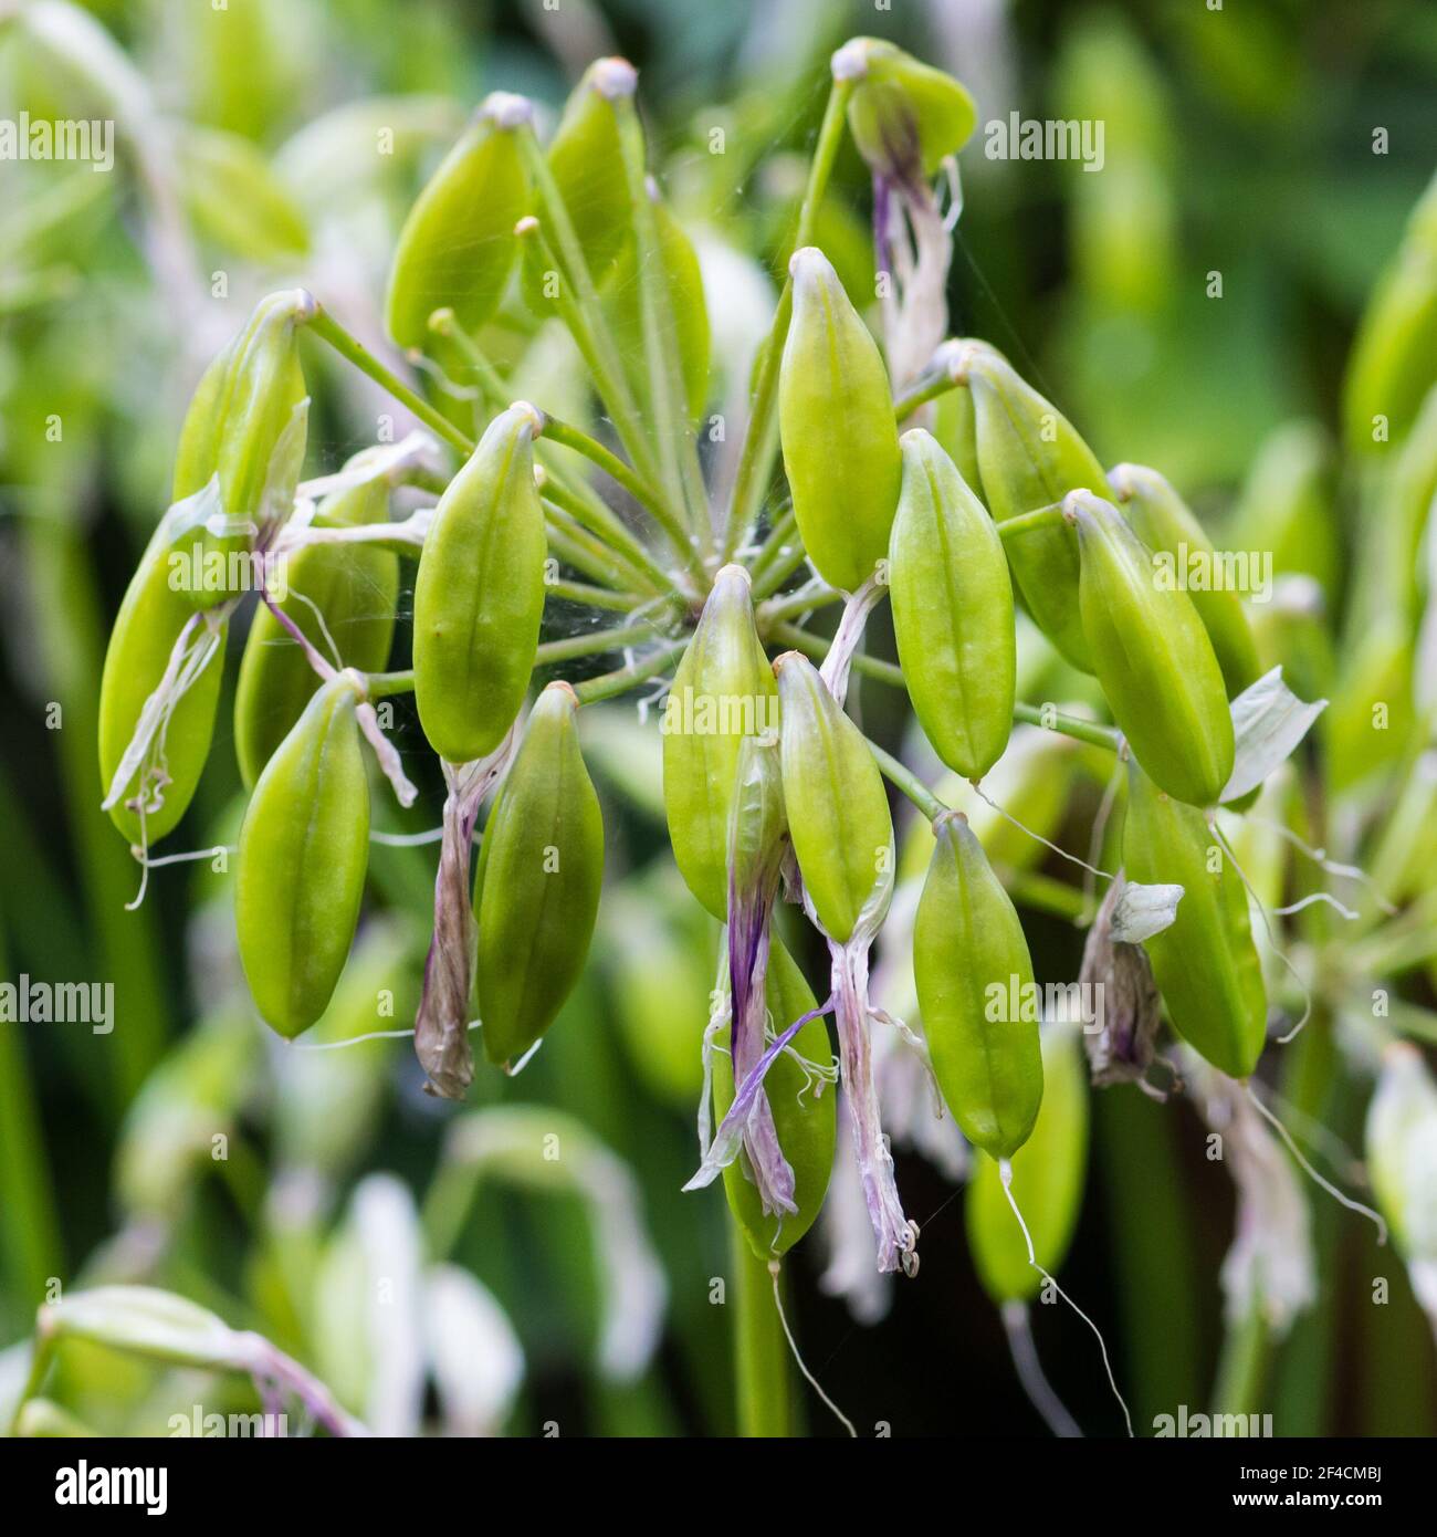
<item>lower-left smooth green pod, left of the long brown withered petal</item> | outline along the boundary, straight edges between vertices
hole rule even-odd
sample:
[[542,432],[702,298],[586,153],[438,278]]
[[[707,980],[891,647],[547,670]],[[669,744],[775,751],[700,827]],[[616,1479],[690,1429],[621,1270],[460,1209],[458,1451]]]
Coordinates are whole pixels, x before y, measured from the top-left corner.
[[235,927],[249,991],[290,1041],[329,1007],[369,864],[369,779],[343,673],[269,759],[240,828]]

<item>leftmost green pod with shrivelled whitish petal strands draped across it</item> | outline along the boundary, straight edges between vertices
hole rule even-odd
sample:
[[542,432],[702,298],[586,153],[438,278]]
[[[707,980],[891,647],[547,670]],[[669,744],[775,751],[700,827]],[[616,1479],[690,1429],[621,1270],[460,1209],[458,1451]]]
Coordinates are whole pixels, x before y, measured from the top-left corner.
[[[172,532],[161,523],[131,578],[111,630],[100,676],[100,782],[109,790],[124,756],[144,702],[155,692],[169,666],[171,652],[184,624],[194,616],[189,598],[171,583]],[[111,807],[111,821],[131,844],[158,842],[184,815],[200,784],[209,744],[215,730],[215,707],[224,672],[224,627],[215,655],[194,686],[181,696],[164,730],[160,767],[163,804],[141,819],[126,802],[146,801],[152,785],[141,782],[144,768],[124,787]]]

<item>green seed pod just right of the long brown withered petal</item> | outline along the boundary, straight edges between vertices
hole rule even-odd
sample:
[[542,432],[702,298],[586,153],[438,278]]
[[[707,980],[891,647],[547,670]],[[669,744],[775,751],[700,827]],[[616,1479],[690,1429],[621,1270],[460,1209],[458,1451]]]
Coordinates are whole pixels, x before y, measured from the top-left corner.
[[509,1062],[573,991],[599,911],[604,822],[567,682],[539,695],[490,812],[475,881],[484,1054]]

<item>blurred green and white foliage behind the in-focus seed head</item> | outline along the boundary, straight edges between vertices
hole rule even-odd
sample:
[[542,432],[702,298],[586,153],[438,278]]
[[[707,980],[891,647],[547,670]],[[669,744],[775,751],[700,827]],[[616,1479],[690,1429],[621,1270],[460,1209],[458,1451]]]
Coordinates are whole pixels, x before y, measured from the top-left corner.
[[[1362,536],[1360,481],[1337,472],[1342,377],[1363,301],[1432,174],[1437,9],[86,9],[92,26],[58,0],[0,5],[3,115],[120,123],[111,175],[0,163],[0,973],[114,982],[117,1025],[106,1036],[0,1025],[0,1346],[28,1336],[52,1279],[144,1280],[269,1336],[375,1426],[727,1432],[728,1330],[712,1290],[728,1265],[722,1197],[718,1187],[679,1193],[695,1164],[716,934],[690,916],[665,851],[652,713],[644,722],[632,702],[586,712],[610,832],[602,927],[544,1050],[521,1079],[481,1074],[478,1108],[426,1099],[400,1041],[304,1054],[269,1037],[237,978],[229,882],[207,864],[155,871],[143,907],[126,910],[138,867],[98,810],[100,662],[168,503],[189,390],[272,287],[303,283],[377,338],[398,223],[472,105],[503,88],[552,114],[604,52],[642,72],[647,124],[690,229],[782,272],[827,57],[853,32],[888,35],[979,101],[979,134],[962,155],[953,332],[1002,347],[1103,463],[1159,466],[1214,527],[1263,530],[1254,547],[1277,552],[1279,575],[1313,579],[1326,621],[1299,604],[1262,622],[1282,632],[1294,686],[1328,690],[1360,650],[1360,635],[1339,622],[1357,612],[1348,567]],[[1010,112],[1100,118],[1103,172],[988,160],[982,124]],[[715,128],[722,154],[712,152]],[[392,152],[375,154],[381,131]],[[865,180],[845,144],[819,243],[867,301]],[[767,327],[762,272],[744,267],[742,278],[713,312],[721,360]],[[518,354],[526,337],[515,324]],[[563,398],[566,364],[561,347],[530,354],[526,367],[547,390],[535,398]],[[318,349],[306,366],[318,473],[372,441],[377,415],[393,407]],[[1362,666],[1409,672],[1411,646]],[[1040,669],[1028,681],[1045,690],[1030,698],[1077,687]],[[420,745],[407,709],[395,725],[401,749]],[[901,727],[874,686],[862,687],[861,709],[870,730]],[[234,842],[226,721],[221,705],[211,772],[175,847]],[[1411,745],[1406,735],[1399,752]],[[1329,742],[1331,775],[1360,779],[1366,761],[1343,768],[1342,752]],[[1047,825],[1084,851],[1105,772],[1084,752],[1070,756]],[[390,827],[436,824],[441,801],[432,776],[410,818],[390,808]],[[1036,867],[1036,853],[1014,862]],[[383,1028],[375,998],[386,991],[390,1028],[412,1016],[432,858],[424,847],[375,848],[377,916],[321,1039]],[[1044,868],[1068,876],[1060,864]],[[1025,924],[1039,979],[1074,976],[1080,933],[1037,911]],[[1417,982],[1419,1004],[1428,985]],[[1336,1051],[1334,1021],[1319,1017],[1283,1062],[1283,1093],[1357,1147],[1366,1090],[1336,1071]],[[533,1114],[570,1139],[572,1179],[515,1151],[529,1144],[513,1140],[521,1122],[506,1114]],[[822,1247],[808,1239],[790,1265],[808,1362],[861,1429],[1040,1431],[965,1253],[951,1171],[908,1153],[899,1165],[922,1227],[922,1274],[881,1299],[887,1317],[867,1326],[825,1294]],[[1094,1096],[1094,1156],[1064,1280],[1114,1343],[1139,1426],[1210,1400],[1231,1225],[1230,1182],[1206,1160],[1185,1102],[1156,1105],[1131,1088]],[[1354,1220],[1326,1203],[1314,1205],[1314,1230],[1322,1291],[1274,1366],[1279,1434],[1431,1432],[1432,1342],[1400,1265],[1389,1253],[1377,1262],[1392,1302],[1374,1308],[1366,1233],[1359,1247]],[[366,1266],[370,1279],[373,1266],[398,1277],[383,1305],[364,1300],[375,1291]],[[1085,1426],[1113,1431],[1091,1336],[1059,1310],[1037,1313],[1050,1377]],[[446,1380],[432,1337],[444,1320],[447,1339],[483,1346],[476,1380]],[[3,1405],[23,1346],[0,1362]],[[220,1385],[97,1348],[68,1354],[49,1396],[83,1423],[124,1432],[163,1431],[201,1397],[252,1406],[243,1380]],[[833,1429],[811,1402],[808,1413],[816,1432]]]

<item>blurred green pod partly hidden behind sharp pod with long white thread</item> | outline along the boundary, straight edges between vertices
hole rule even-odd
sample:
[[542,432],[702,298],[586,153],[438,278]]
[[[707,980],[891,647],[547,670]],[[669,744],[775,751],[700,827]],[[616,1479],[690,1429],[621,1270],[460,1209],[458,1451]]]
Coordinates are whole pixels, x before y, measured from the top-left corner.
[[[1033,1257],[1054,1274],[1073,1242],[1088,1164],[1088,1085],[1073,1025],[1042,1031],[1044,1104],[1027,1144],[1013,1154],[1013,1199],[1033,1237]],[[1004,1194],[997,1164],[977,1156],[967,1194],[968,1250],[977,1277],[999,1305],[1031,1302],[1042,1276]]]

